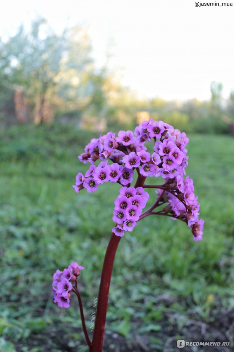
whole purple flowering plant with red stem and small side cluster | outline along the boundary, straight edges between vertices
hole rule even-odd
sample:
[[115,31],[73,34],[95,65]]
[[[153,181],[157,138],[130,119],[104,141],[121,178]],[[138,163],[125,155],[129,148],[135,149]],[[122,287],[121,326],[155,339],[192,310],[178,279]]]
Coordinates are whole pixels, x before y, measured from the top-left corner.
[[[145,142],[151,142],[152,139],[153,148],[147,151]],[[85,175],[79,172],[76,176],[73,188],[77,194],[82,189],[92,193],[105,182],[117,182],[121,185],[119,195],[114,201],[115,225],[103,263],[92,342],[86,331],[77,288],[79,274],[76,272],[83,268],[77,266],[77,263],[72,263],[68,269],[63,272],[57,270],[54,274],[54,302],[58,303],[59,307],[69,306],[70,292],[74,291],[78,297],[83,331],[90,352],[102,351],[114,256],[125,231],[133,231],[136,223],[148,215],[163,215],[185,222],[192,230],[193,239],[202,239],[204,221],[199,220],[200,203],[198,196],[194,194],[193,180],[189,176],[185,177],[188,141],[185,132],[181,133],[163,121],[149,119],[137,126],[134,133],[119,131],[118,136],[115,136],[115,133],[108,132],[104,136],[93,138],[85,147],[85,152],[78,157],[81,162],[91,165]],[[138,178],[133,186],[131,183],[134,172],[137,172]],[[147,177],[163,182],[147,184]],[[147,188],[155,189],[155,199],[153,205],[142,213],[149,199],[145,190]],[[160,210],[155,211],[158,207]],[[72,285],[71,281],[74,281],[75,285]]]

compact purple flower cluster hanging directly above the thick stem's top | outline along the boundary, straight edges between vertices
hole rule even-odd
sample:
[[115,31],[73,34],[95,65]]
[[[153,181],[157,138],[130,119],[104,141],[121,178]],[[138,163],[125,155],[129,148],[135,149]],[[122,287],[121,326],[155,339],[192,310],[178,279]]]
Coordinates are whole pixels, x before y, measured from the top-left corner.
[[120,195],[114,201],[115,208],[112,218],[117,223],[112,229],[117,236],[122,237],[124,231],[133,231],[148,199],[149,195],[142,187],[120,188]]

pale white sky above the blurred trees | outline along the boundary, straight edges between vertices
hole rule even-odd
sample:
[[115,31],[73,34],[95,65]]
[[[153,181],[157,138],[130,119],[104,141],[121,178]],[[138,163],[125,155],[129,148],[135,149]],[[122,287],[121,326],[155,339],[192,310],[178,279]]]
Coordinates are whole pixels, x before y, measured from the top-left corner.
[[0,35],[13,32],[21,22],[28,24],[35,13],[57,31],[67,24],[82,24],[88,28],[98,64],[105,62],[109,47],[112,65],[124,68],[122,84],[141,96],[206,100],[210,83],[221,81],[228,97],[234,88],[234,2],[194,4],[194,0],[4,1]]

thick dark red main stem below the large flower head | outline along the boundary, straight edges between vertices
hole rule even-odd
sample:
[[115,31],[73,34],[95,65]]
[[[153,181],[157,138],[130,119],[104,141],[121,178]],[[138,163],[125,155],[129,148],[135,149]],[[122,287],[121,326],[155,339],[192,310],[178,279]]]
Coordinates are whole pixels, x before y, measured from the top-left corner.
[[95,319],[95,327],[93,332],[93,340],[89,352],[102,352],[103,334],[106,323],[107,302],[109,294],[109,286],[111,282],[112,268],[121,237],[112,233],[107,246],[106,255],[101,273],[101,281],[98,294],[97,313]]

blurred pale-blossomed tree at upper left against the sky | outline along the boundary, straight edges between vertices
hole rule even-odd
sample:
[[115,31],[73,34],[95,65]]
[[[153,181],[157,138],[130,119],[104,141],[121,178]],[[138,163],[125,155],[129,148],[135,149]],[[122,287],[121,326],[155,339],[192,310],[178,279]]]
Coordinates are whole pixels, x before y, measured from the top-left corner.
[[[76,82],[80,83],[79,75],[91,63],[85,31],[75,27],[58,35],[43,18],[32,22],[30,33],[21,25],[2,46],[8,58],[4,63],[8,86],[24,88],[29,111],[38,123],[45,120],[46,99],[55,105],[67,100]],[[54,100],[55,92],[59,96]]]

